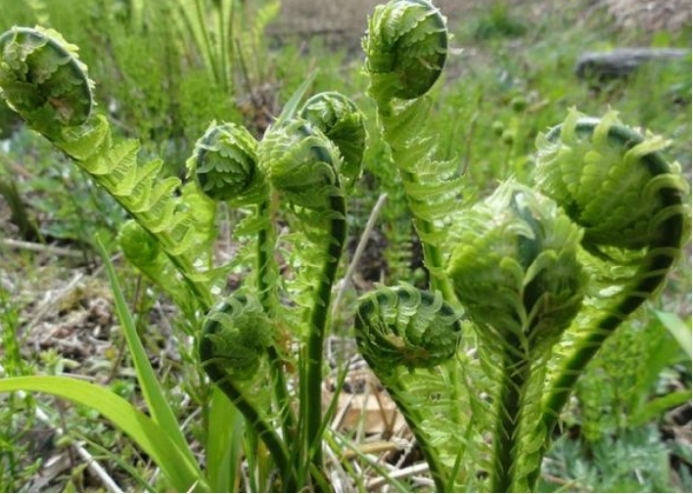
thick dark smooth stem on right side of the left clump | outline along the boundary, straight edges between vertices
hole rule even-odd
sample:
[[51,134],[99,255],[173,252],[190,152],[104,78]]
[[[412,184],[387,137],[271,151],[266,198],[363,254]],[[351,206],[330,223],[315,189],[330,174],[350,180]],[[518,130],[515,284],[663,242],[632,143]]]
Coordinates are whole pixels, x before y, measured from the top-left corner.
[[[306,380],[301,402],[305,399],[304,417],[304,447],[311,454],[311,463],[320,471],[322,467],[322,366],[323,342],[332,296],[332,285],[337,275],[339,260],[342,256],[347,235],[346,201],[343,195],[335,194],[330,198],[331,210],[334,217],[330,220],[325,264],[314,299],[310,316],[310,335],[308,337],[306,363]],[[303,384],[303,380],[301,380]]]

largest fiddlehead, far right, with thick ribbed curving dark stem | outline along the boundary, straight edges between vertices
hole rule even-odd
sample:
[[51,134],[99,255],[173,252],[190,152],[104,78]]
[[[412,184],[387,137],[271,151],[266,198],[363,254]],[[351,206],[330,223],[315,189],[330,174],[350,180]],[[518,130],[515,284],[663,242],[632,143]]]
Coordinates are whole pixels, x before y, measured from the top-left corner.
[[614,112],[596,119],[576,110],[537,139],[538,187],[584,227],[589,252],[629,270],[621,291],[562,362],[545,400],[548,432],[603,342],[662,286],[680,254],[687,224],[685,184],[678,164],[661,154],[666,145],[624,126]]

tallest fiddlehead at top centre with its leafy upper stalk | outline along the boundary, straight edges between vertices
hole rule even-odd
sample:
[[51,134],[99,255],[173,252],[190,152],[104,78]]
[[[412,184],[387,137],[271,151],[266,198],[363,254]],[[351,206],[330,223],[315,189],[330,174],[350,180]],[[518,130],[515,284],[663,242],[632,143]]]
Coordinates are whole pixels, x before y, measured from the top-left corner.
[[363,49],[368,92],[399,170],[431,286],[453,302],[440,246],[461,182],[452,162],[435,159],[436,139],[425,131],[431,105],[426,93],[443,71],[448,37],[445,18],[428,1],[391,0],[376,7]]

